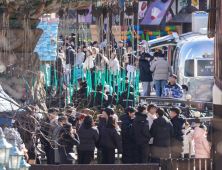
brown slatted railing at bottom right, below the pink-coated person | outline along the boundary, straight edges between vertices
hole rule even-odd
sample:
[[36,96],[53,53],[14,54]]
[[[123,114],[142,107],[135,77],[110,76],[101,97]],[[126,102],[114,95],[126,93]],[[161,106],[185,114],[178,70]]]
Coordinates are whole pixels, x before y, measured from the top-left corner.
[[161,159],[161,170],[212,170],[212,159]]

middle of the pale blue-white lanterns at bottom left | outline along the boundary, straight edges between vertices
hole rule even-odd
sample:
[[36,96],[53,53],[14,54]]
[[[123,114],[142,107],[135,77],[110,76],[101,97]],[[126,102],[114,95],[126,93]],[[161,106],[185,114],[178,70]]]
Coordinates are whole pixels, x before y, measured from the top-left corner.
[[15,140],[13,148],[10,151],[10,157],[9,157],[9,169],[10,170],[19,170],[20,169],[20,163],[21,163],[22,156],[23,156],[23,154],[17,148],[17,143]]

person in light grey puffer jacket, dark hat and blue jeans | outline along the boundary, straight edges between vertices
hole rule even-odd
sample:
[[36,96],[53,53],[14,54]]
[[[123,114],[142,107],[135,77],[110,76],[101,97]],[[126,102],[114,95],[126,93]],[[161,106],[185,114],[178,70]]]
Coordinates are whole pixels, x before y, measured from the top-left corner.
[[154,53],[154,55],[157,56],[157,60],[151,65],[150,71],[154,74],[156,96],[160,97],[164,86],[167,84],[169,74],[172,74],[172,69],[170,63],[164,59],[160,51]]

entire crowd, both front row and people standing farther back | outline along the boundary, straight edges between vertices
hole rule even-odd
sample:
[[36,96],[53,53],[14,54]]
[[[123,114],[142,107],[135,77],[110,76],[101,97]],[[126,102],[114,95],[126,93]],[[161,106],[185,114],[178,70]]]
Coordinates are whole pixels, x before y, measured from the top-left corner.
[[[80,42],[75,46],[74,35],[65,37],[55,64],[58,81],[65,77],[65,84],[72,82],[75,66],[82,67],[84,73],[90,70],[92,82],[95,81],[95,69],[104,71],[108,68],[112,77],[117,76],[119,70],[126,70],[125,82],[121,81],[125,87],[119,100],[116,86],[110,87],[108,83],[104,88],[101,84],[93,86],[94,91],[88,94],[89,82],[81,77],[78,79],[79,88],[72,94],[72,103],[61,106],[51,103],[44,117],[36,112],[35,106],[27,106],[17,115],[13,126],[18,128],[26,146],[29,163],[38,160],[39,141],[47,164],[90,164],[95,152],[97,162],[101,164],[115,164],[117,153],[122,155],[123,164],[160,163],[160,158],[187,158],[190,151],[197,158],[209,158],[210,138],[206,138],[206,126],[197,124],[193,130],[179,107],[173,106],[170,117],[167,117],[166,110],[155,104],[146,105],[138,100],[135,106],[135,87],[130,75],[136,73],[136,67],[139,68],[143,96],[150,96],[155,85],[158,97],[186,98],[188,87],[181,87],[176,82],[177,76],[166,60],[167,48],[148,53],[146,46],[139,45],[138,55],[134,55],[135,48],[129,42],[126,48],[122,41],[109,46],[104,42],[101,45],[96,41],[91,45]],[[86,99],[84,108],[77,111],[82,99]],[[120,117],[113,109],[118,104],[125,109]],[[100,114],[95,115],[90,109],[94,106]]]

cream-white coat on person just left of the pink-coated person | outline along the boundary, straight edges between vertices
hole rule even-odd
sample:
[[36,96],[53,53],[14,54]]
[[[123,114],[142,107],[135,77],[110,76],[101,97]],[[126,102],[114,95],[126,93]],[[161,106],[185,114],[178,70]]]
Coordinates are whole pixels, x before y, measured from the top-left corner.
[[193,130],[191,127],[189,127],[187,130],[185,130],[184,135],[184,154],[189,153],[189,142],[191,140],[191,154],[195,153],[194,151],[194,140],[193,140]]

